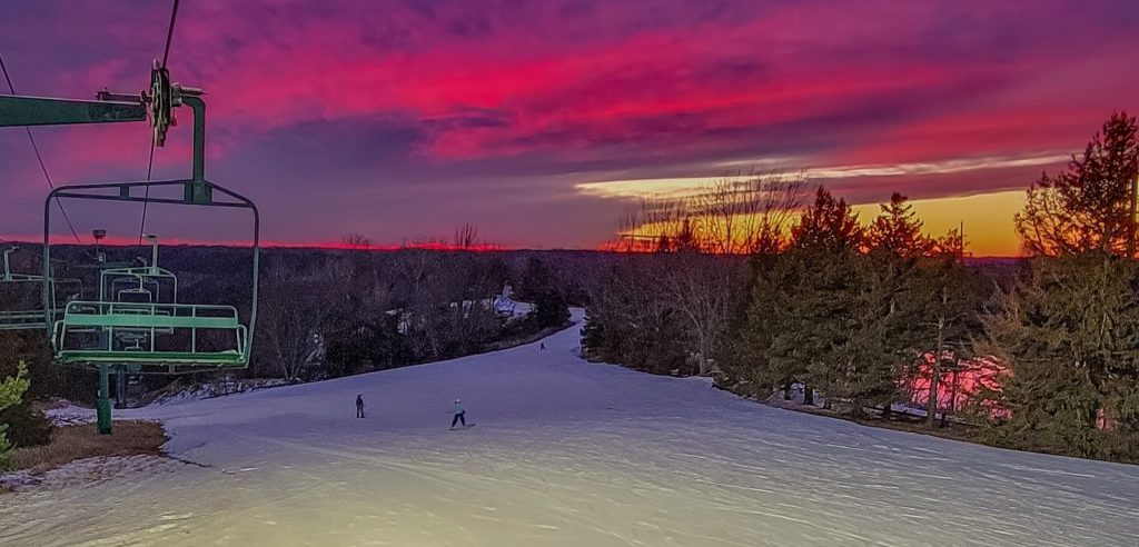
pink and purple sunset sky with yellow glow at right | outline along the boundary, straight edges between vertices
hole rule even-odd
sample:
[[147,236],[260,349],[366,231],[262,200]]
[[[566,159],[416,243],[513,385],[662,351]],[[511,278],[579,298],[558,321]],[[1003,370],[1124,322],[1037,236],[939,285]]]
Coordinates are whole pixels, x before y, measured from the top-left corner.
[[[6,0],[0,52],[21,95],[137,92],[170,8]],[[902,191],[931,231],[964,222],[977,255],[1018,252],[1023,189],[1139,109],[1137,67],[1130,0],[185,0],[170,58],[208,93],[207,178],[257,201],[271,242],[472,222],[592,248],[641,197],[805,169],[855,204]],[[189,173],[181,117],[155,178]],[[146,177],[145,124],[34,133],[57,183]],[[39,234],[46,191],[24,131],[0,130],[0,237]],[[247,235],[154,214],[163,236]],[[139,229],[136,209],[73,219]]]

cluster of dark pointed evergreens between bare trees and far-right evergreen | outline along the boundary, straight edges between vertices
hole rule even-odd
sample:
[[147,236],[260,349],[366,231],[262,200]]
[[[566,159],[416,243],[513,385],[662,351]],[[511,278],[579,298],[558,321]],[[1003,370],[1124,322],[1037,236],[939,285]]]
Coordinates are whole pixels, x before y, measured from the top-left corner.
[[790,247],[754,262],[728,372],[751,394],[802,383],[853,414],[904,400],[918,358],[967,338],[985,294],[968,285],[975,278],[961,272],[960,248],[937,250],[904,196],[892,196],[863,232],[850,207],[820,189]]

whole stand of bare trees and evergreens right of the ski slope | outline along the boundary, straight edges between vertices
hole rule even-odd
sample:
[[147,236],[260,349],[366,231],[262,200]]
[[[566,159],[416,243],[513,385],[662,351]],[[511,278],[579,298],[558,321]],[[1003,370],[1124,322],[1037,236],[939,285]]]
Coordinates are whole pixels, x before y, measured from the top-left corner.
[[1021,261],[970,264],[961,234],[925,235],[899,194],[862,224],[806,183],[759,173],[626,219],[626,248],[650,252],[597,284],[588,356],[763,400],[798,386],[855,418],[890,418],[923,383],[931,427],[937,382],[991,359],[999,385],[951,409],[980,440],[1139,462],[1134,117],[1031,183]]

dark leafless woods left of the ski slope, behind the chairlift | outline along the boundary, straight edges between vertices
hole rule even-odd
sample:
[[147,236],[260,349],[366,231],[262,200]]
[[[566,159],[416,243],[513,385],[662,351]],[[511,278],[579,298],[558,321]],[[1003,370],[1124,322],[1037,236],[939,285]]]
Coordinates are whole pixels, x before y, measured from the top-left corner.
[[[407,365],[451,359],[534,340],[568,325],[568,299],[584,297],[577,279],[591,269],[577,253],[482,253],[464,251],[368,251],[360,236],[349,250],[267,250],[262,253],[259,319],[247,369],[203,370],[183,376],[134,377],[130,399],[149,398],[200,384],[245,379],[310,382]],[[105,247],[108,262],[130,263],[148,248]],[[63,247],[60,278],[90,288],[98,269],[92,250]],[[15,268],[38,267],[34,252],[21,253]],[[557,260],[557,270],[551,267]],[[235,305],[248,317],[252,254],[233,247],[164,248],[159,263],[178,275],[179,302]],[[566,272],[581,270],[576,278]],[[31,270],[34,271],[34,270]],[[494,297],[513,288],[528,313],[509,315]],[[38,285],[24,305],[40,304]],[[11,304],[11,302],[8,302]],[[18,304],[19,302],[17,302]],[[6,444],[50,441],[51,423],[35,410],[38,400],[63,397],[93,402],[97,375],[52,365],[46,334],[0,330],[0,468]],[[26,372],[18,365],[26,362]],[[130,401],[128,401],[130,402]],[[5,441],[5,436],[7,441]]]

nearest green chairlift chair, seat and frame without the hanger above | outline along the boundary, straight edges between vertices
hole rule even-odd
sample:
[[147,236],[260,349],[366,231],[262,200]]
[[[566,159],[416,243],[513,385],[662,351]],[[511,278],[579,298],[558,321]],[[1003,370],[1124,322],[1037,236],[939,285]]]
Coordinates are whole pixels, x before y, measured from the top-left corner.
[[[132,191],[142,188],[147,188],[145,195]],[[178,197],[161,194],[163,189],[174,188],[185,191]],[[62,313],[55,313],[48,330],[56,362],[167,374],[248,366],[256,321],[260,254],[260,222],[253,202],[208,181],[194,179],[59,187],[49,195],[44,206],[46,260],[50,260],[51,248],[47,231],[49,204],[57,197],[249,210],[253,212],[253,271],[252,299],[245,320],[233,305],[178,302],[178,277],[157,266],[157,240],[150,236],[154,254],[149,264],[101,271],[96,300],[68,302]]]

